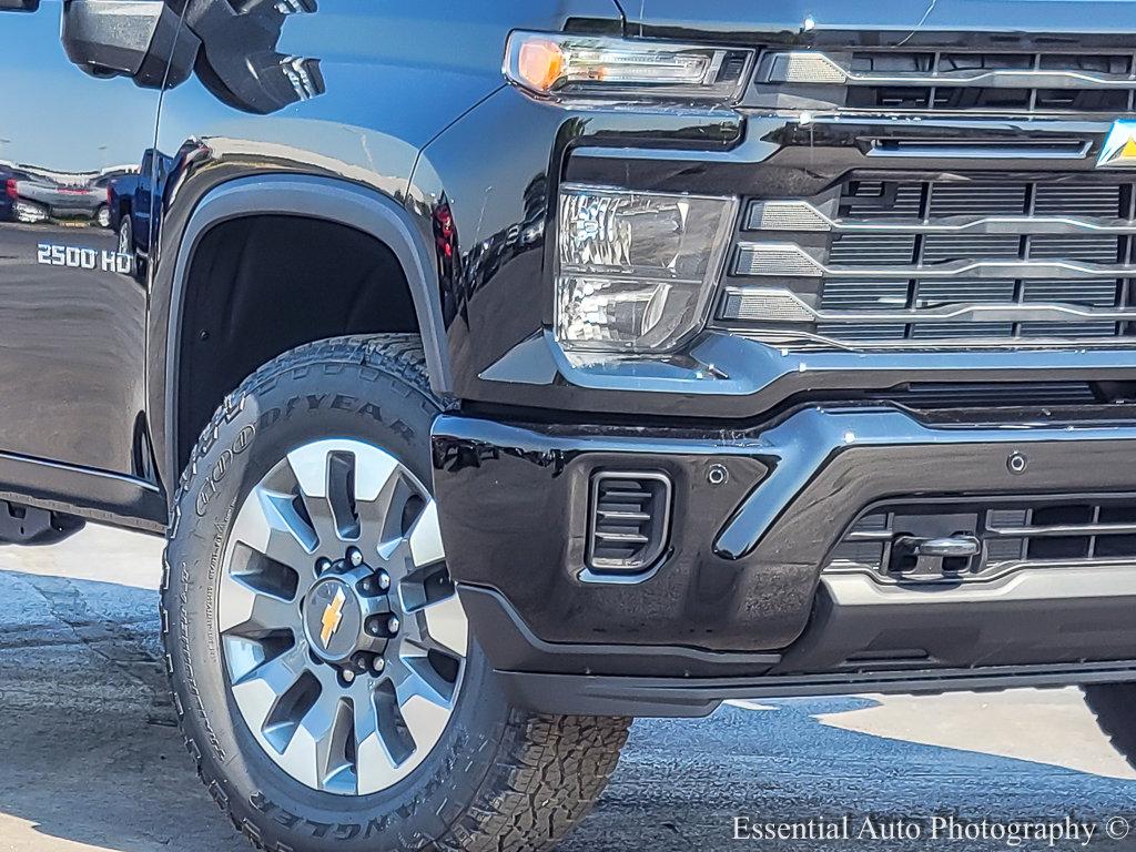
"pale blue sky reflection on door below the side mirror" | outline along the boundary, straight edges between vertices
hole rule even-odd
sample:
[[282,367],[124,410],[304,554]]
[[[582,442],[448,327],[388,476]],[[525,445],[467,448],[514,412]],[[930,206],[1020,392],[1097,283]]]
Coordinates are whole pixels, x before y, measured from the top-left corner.
[[59,41],[61,7],[44,0],[36,12],[0,11],[0,160],[58,172],[137,164],[153,139],[158,92],[72,65]]

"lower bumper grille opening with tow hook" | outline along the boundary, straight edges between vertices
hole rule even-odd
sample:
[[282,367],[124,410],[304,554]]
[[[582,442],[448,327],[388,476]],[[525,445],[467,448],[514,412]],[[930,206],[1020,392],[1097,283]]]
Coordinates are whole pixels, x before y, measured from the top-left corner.
[[[974,557],[918,560],[912,542],[977,540]],[[1136,566],[1136,499],[1021,499],[891,503],[864,512],[825,570],[887,582],[991,579],[1028,568]]]

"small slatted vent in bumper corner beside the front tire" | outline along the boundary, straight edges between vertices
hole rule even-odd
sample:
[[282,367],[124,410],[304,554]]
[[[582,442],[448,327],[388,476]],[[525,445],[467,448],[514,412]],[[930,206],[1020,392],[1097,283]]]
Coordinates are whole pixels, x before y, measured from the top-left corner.
[[635,574],[662,554],[670,526],[670,479],[665,474],[600,471],[592,477],[587,567],[596,574]]

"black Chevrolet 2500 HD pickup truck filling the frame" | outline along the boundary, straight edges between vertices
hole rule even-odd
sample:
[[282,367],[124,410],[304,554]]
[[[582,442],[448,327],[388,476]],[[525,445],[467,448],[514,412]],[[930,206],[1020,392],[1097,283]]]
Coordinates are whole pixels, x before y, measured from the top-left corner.
[[0,0],[6,161],[154,153],[134,248],[0,225],[0,540],[168,536],[279,852],[545,849],[730,698],[1078,685],[1134,755],[1134,32]]

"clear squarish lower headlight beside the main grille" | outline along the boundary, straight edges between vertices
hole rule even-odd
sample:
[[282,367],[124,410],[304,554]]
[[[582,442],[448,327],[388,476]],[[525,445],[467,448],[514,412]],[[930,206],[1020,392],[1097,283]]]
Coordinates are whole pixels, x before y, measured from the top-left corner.
[[565,186],[556,331],[566,350],[663,352],[698,331],[737,200]]

